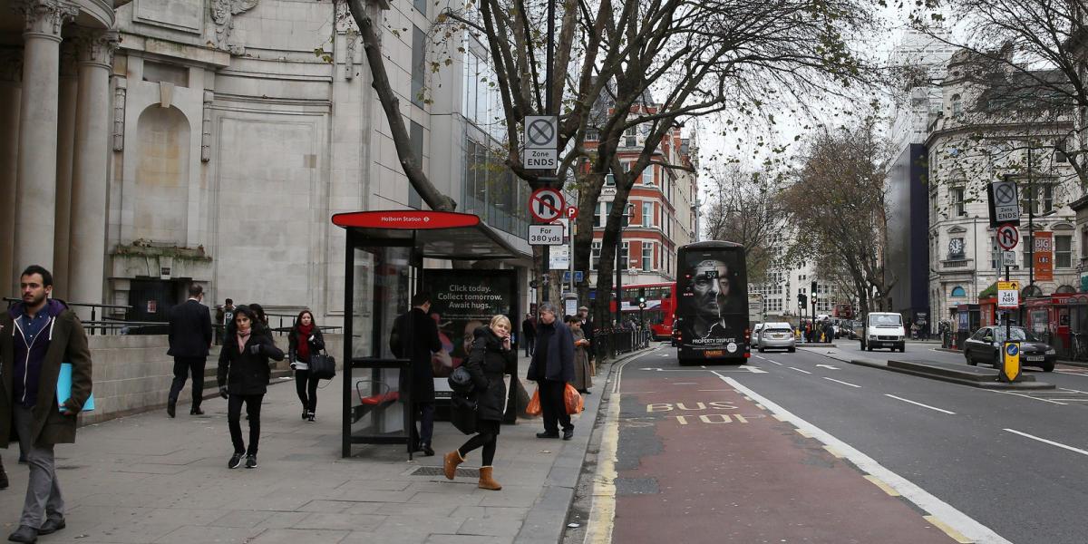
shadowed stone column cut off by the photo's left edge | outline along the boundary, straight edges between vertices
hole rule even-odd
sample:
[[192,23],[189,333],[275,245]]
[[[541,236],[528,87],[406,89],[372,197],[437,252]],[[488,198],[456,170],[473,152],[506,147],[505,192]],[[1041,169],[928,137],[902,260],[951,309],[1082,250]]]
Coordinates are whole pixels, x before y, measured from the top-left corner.
[[15,164],[18,160],[20,74],[23,73],[21,49],[0,50],[0,295],[9,292],[13,273],[11,232],[15,230]]

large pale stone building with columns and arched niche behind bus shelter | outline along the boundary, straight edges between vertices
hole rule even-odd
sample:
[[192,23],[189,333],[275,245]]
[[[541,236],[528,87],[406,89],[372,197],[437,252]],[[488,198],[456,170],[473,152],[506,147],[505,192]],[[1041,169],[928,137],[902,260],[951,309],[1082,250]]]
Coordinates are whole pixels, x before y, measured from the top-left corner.
[[[344,3],[116,3],[0,0],[17,14],[0,18],[0,189],[16,196],[0,210],[14,233],[2,277],[41,263],[58,296],[129,319],[161,321],[196,282],[209,302],[338,322],[345,239],[330,217],[421,207]],[[424,171],[524,255],[504,267],[528,270],[524,184],[478,183],[473,165],[487,131],[469,72],[486,50],[438,44],[433,2],[369,9]]]

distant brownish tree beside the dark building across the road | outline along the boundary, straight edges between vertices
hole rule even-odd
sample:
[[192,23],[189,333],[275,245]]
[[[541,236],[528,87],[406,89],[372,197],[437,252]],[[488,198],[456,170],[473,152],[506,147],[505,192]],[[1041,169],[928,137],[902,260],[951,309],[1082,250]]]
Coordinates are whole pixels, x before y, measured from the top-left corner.
[[784,200],[806,248],[825,277],[849,279],[860,311],[888,309],[895,284],[885,270],[888,215],[885,202],[886,146],[875,122],[824,131],[811,137],[808,152]]

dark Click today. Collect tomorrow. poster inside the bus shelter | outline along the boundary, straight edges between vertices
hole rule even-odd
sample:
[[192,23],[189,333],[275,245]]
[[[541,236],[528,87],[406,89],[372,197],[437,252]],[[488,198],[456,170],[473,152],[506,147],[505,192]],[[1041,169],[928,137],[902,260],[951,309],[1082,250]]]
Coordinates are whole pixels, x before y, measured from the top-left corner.
[[505,314],[516,321],[514,301],[517,277],[512,270],[425,270],[423,290],[431,294],[431,319],[438,325],[442,350],[431,359],[434,391],[448,396],[446,378],[468,357],[477,327],[491,323],[492,316]]

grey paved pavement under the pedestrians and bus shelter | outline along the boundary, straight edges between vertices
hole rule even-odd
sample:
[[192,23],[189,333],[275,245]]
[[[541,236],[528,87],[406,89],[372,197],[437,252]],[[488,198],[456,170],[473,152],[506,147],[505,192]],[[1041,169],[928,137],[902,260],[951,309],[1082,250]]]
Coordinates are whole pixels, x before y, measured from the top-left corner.
[[[528,359],[519,362],[523,373]],[[592,393],[604,387],[608,371],[609,364],[597,369]],[[57,447],[67,528],[39,542],[559,542],[599,394],[585,396],[571,441],[536,438],[539,420],[503,425],[494,462],[503,490],[493,492],[477,487],[479,450],[454,481],[436,470],[442,454],[467,438],[448,422],[435,423],[434,457],[409,461],[403,445],[358,445],[353,457],[341,458],[339,378],[319,391],[313,423],[299,418],[293,381],[269,387],[252,470],[226,468],[233,448],[226,401],[219,398],[203,403],[205,416],[178,405],[176,419],[154,410],[81,428],[76,444]],[[11,478],[0,492],[7,532],[17,527],[26,490],[27,468],[16,455],[15,447],[2,454]],[[419,469],[428,472],[416,474]]]

